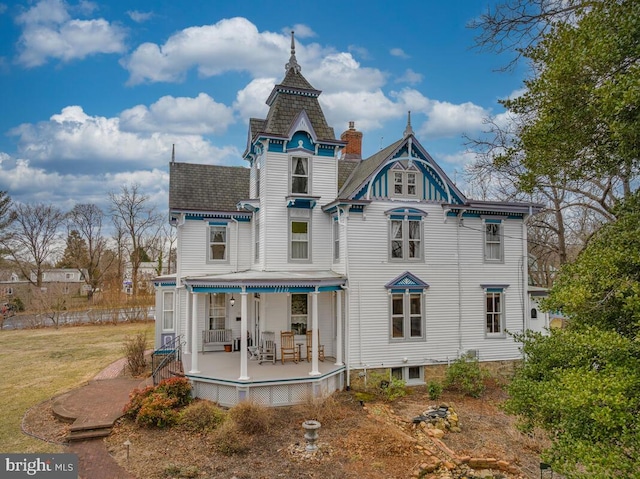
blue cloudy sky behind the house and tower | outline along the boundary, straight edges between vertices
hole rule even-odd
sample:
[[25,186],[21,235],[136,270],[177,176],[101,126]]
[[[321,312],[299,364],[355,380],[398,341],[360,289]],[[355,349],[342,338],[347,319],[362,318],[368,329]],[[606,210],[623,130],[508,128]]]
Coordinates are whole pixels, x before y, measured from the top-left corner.
[[416,137],[462,184],[465,135],[522,88],[509,58],[467,27],[494,0],[323,2],[0,0],[0,190],[15,202],[108,209],[139,185],[168,208],[168,164],[248,166],[249,119],[284,78],[295,31],[302,74],[336,136],[363,156]]

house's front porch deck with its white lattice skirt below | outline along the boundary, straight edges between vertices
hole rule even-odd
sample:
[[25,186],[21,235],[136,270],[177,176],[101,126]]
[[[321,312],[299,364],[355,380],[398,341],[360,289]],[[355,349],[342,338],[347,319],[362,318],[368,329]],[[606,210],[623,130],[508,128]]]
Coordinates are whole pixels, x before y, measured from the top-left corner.
[[344,365],[336,365],[327,357],[320,362],[320,374],[310,375],[311,362],[279,360],[275,364],[247,361],[249,379],[240,380],[240,352],[197,353],[198,372],[188,370],[191,354],[184,353],[185,375],[193,382],[194,396],[231,407],[250,400],[263,406],[289,406],[305,402],[309,397],[326,397],[344,387]]

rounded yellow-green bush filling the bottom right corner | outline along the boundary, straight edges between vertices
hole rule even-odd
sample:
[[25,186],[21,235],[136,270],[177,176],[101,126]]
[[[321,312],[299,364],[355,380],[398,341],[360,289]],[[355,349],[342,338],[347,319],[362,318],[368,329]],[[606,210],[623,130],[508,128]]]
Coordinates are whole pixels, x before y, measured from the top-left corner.
[[506,410],[551,433],[544,460],[568,478],[640,477],[640,344],[591,326],[518,339]]

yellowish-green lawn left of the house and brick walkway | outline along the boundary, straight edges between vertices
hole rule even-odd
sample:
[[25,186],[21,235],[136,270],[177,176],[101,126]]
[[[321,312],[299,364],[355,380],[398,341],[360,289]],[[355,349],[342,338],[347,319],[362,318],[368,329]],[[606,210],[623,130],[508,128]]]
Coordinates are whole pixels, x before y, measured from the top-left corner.
[[153,322],[0,331],[0,452],[60,452],[20,429],[33,405],[85,384],[121,358],[127,337],[153,338]]

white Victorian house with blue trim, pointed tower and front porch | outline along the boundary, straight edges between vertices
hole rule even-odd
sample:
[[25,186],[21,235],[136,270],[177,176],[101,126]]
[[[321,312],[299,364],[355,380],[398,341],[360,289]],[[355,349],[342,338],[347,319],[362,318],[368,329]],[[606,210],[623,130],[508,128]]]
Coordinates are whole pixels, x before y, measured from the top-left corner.
[[[410,117],[362,159],[362,133],[336,138],[320,93],[292,39],[266,118],[249,122],[248,168],[170,164],[176,274],[155,279],[156,345],[184,340],[194,394],[224,405],[300,403],[371,369],[424,384],[462,355],[520,358],[507,331],[531,325],[526,223],[541,206],[465,197]],[[284,363],[283,331],[302,364]],[[270,337],[284,364],[258,365]]]

